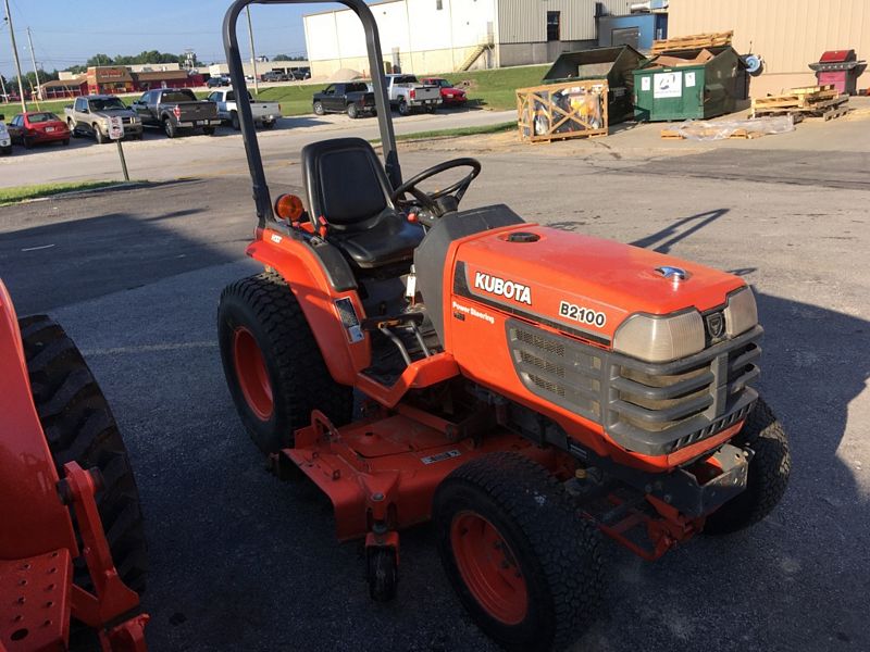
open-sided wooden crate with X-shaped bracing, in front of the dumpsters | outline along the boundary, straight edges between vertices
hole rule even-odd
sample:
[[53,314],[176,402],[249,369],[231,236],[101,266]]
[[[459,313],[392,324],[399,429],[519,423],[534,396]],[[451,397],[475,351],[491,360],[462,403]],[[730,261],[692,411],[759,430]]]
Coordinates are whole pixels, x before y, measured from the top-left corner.
[[607,136],[607,93],[605,79],[518,88],[520,140],[548,142]]

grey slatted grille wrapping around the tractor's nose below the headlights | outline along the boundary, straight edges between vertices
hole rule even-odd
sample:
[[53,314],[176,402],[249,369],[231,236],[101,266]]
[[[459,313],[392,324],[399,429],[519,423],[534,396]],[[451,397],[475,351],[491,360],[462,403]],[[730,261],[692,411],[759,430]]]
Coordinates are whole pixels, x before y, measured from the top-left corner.
[[508,322],[514,368],[534,394],[599,423],[630,450],[667,454],[745,418],[757,397],[756,327],[695,355],[652,364]]

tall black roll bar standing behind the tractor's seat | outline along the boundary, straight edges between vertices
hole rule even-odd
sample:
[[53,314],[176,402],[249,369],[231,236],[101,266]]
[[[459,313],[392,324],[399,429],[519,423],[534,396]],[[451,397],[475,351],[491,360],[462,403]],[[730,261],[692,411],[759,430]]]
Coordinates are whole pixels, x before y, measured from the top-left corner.
[[236,93],[236,109],[241,126],[241,139],[245,141],[245,153],[248,156],[248,170],[253,184],[253,201],[257,205],[257,220],[260,228],[266,223],[274,223],[272,199],[265,183],[263,160],[260,155],[260,146],[257,141],[257,130],[253,126],[251,104],[248,100],[248,86],[245,83],[245,71],[241,67],[241,54],[236,37],[236,23],[241,10],[248,4],[302,4],[310,2],[338,2],[351,9],[362,22],[365,33],[365,46],[369,52],[369,70],[374,85],[374,102],[377,109],[377,125],[381,129],[381,142],[384,149],[384,167],[387,178],[394,188],[401,184],[401,168],[399,156],[396,152],[396,135],[393,131],[393,116],[389,113],[389,101],[384,87],[383,55],[381,53],[381,37],[374,15],[363,0],[235,0],[224,15],[223,38],[226,51],[226,63],[229,66],[229,78]]

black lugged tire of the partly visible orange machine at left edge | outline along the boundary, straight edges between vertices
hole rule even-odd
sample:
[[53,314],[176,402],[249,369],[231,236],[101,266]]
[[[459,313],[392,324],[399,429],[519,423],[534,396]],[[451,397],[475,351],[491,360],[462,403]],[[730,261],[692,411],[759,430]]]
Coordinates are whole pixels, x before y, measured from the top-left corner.
[[[54,321],[36,315],[18,321],[27,371],[42,430],[63,477],[63,465],[97,467],[104,487],[97,506],[121,579],[145,589],[147,547],[139,491],[112,411],[75,343]],[[75,581],[90,590],[90,576],[77,560]]]

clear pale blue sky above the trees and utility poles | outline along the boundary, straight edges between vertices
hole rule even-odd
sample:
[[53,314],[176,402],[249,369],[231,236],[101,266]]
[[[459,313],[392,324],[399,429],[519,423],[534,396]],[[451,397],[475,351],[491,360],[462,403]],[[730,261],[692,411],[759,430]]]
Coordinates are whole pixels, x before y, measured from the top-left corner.
[[[23,72],[33,68],[26,28],[30,28],[39,67],[63,70],[101,52],[138,54],[160,50],[179,54],[190,48],[204,63],[224,61],[221,26],[232,0],[9,0]],[[304,54],[302,14],[340,9],[333,2],[251,5],[258,54]],[[9,26],[0,2],[0,73],[14,75]],[[246,21],[239,21],[241,54],[250,57]]]

